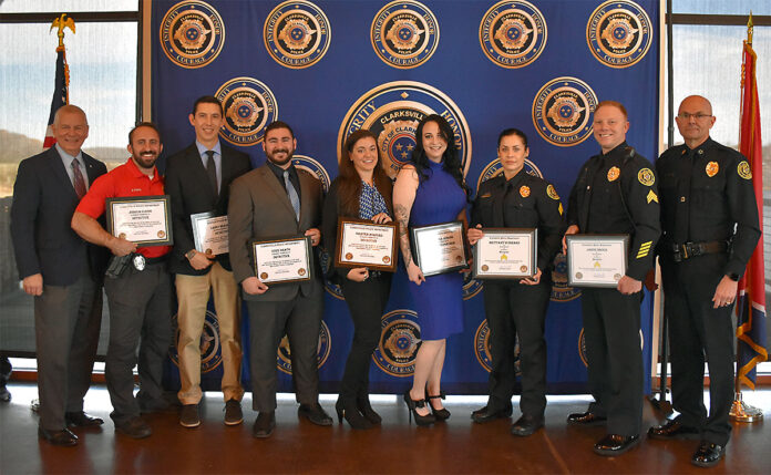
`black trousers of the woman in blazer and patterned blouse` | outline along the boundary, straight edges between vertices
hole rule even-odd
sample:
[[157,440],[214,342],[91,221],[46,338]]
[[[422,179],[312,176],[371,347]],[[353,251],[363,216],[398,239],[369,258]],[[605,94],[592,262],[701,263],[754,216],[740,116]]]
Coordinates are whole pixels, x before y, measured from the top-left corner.
[[390,272],[370,277],[363,282],[342,281],[342,295],[353,320],[353,341],[340,381],[340,400],[353,401],[369,393],[369,369],[372,352],[380,342],[380,320],[391,293]]

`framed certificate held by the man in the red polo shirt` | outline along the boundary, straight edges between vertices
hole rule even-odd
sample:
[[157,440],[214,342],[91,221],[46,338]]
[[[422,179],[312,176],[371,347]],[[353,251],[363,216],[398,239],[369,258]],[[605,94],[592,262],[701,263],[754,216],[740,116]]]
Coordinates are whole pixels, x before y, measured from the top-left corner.
[[137,246],[171,246],[172,200],[168,195],[107,198],[107,233]]

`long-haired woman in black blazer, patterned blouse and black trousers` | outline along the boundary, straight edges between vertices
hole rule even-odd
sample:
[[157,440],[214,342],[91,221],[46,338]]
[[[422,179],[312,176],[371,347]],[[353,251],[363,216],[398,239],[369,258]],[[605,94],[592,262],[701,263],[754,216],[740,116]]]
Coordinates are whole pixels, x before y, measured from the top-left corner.
[[[353,132],[343,145],[340,175],[332,182],[323,206],[325,247],[335,259],[339,217],[391,221],[392,184],[382,168],[374,134]],[[332,262],[333,265],[333,262]],[[389,272],[333,267],[331,279],[342,295],[353,320],[353,342],[340,382],[335,409],[353,428],[369,428],[381,422],[369,402],[369,369],[372,351],[380,341],[380,318],[391,291]]]

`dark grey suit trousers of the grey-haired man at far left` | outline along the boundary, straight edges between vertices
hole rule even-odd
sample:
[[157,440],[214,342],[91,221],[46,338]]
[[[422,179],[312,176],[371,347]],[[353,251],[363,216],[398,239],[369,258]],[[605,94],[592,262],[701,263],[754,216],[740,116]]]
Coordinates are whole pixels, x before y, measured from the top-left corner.
[[65,427],[64,412],[83,411],[91,385],[99,330],[102,287],[86,271],[70,286],[47,286],[34,298],[40,426]]

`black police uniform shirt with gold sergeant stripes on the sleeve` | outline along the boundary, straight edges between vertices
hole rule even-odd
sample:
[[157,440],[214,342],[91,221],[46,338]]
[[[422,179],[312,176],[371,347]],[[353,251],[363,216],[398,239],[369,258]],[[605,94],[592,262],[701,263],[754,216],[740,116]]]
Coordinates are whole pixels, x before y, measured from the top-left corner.
[[582,234],[629,235],[626,275],[644,280],[661,234],[654,166],[626,142],[589,158],[578,172],[567,224]]

